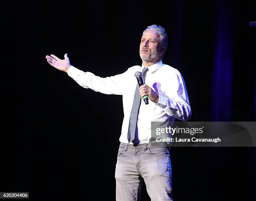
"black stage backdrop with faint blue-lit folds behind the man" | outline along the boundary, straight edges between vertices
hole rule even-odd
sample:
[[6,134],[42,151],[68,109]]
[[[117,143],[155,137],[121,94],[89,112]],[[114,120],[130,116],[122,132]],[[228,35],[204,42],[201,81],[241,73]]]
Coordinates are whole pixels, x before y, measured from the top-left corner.
[[[141,65],[148,25],[169,35],[163,63],[184,77],[190,121],[255,121],[253,2],[10,1],[15,45],[2,88],[14,98],[5,108],[0,191],[30,192],[35,201],[115,200],[122,97],[80,87],[45,56],[68,53],[83,71],[120,74]],[[176,201],[256,200],[255,148],[172,148],[171,161]],[[142,200],[150,200],[145,187]]]

